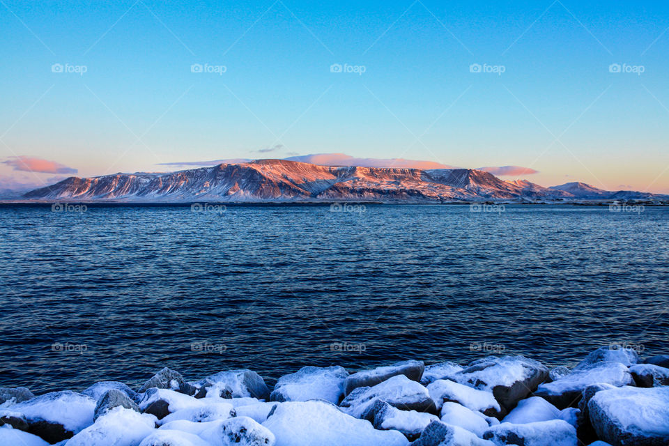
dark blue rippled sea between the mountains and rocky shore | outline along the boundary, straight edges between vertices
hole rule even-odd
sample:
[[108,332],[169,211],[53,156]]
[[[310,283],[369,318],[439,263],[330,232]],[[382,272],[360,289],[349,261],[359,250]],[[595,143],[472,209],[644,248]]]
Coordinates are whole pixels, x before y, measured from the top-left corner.
[[0,385],[668,352],[668,208],[220,210],[0,207]]

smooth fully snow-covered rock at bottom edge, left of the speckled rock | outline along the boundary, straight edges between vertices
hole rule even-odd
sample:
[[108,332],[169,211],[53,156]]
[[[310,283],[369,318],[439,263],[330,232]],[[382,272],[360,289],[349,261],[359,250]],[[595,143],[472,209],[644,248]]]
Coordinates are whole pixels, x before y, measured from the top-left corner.
[[155,422],[153,415],[118,406],[73,436],[67,446],[137,446],[153,432]]

